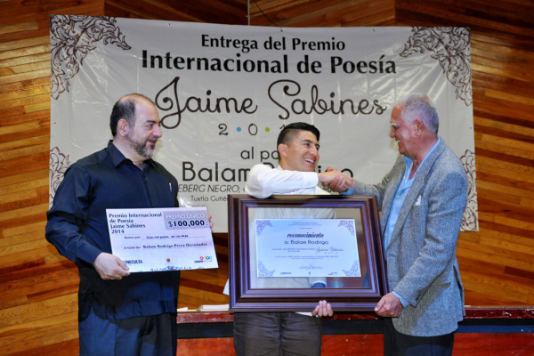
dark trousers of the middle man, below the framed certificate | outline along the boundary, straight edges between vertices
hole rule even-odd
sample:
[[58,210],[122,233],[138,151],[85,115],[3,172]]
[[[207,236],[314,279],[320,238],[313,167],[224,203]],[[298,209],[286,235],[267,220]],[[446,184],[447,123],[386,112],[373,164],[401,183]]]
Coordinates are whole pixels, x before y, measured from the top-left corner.
[[320,318],[296,312],[234,313],[237,356],[320,356]]

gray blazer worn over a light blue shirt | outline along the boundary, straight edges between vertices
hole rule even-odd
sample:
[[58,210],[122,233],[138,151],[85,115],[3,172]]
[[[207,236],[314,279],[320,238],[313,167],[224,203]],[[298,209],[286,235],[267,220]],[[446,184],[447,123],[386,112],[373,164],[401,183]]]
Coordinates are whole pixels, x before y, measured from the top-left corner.
[[[382,182],[355,182],[353,193],[376,195],[383,235],[404,172],[399,156]],[[455,331],[463,320],[464,287],[456,247],[466,204],[464,166],[441,139],[419,168],[387,247],[389,288],[409,302],[392,320],[400,333],[440,336]]]

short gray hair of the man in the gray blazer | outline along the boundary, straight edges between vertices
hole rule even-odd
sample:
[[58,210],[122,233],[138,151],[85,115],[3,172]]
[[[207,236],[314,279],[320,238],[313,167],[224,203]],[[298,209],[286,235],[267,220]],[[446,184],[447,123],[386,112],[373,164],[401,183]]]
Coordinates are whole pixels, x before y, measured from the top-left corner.
[[433,101],[425,93],[411,93],[402,96],[396,103],[401,105],[401,117],[406,124],[411,124],[418,117],[433,134],[438,134],[440,119]]

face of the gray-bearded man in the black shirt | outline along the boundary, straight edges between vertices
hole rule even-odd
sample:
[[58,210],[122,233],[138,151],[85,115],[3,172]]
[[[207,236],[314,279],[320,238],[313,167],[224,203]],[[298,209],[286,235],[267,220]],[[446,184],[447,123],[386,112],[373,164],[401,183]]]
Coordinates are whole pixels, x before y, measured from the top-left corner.
[[125,140],[142,160],[150,158],[154,154],[156,142],[161,137],[159,125],[160,120],[156,107],[143,101],[135,104],[135,124],[126,134]]

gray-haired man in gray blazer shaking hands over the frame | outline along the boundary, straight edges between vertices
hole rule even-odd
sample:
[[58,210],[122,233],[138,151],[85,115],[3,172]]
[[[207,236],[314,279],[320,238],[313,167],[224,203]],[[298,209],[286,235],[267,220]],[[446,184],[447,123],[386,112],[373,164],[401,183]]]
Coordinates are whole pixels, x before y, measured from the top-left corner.
[[[376,304],[384,317],[384,355],[450,355],[463,320],[464,287],[456,258],[467,202],[465,169],[438,136],[425,94],[392,110],[390,136],[401,155],[382,182],[355,182],[344,194],[376,195],[392,291]],[[341,190],[341,183],[330,184]]]

